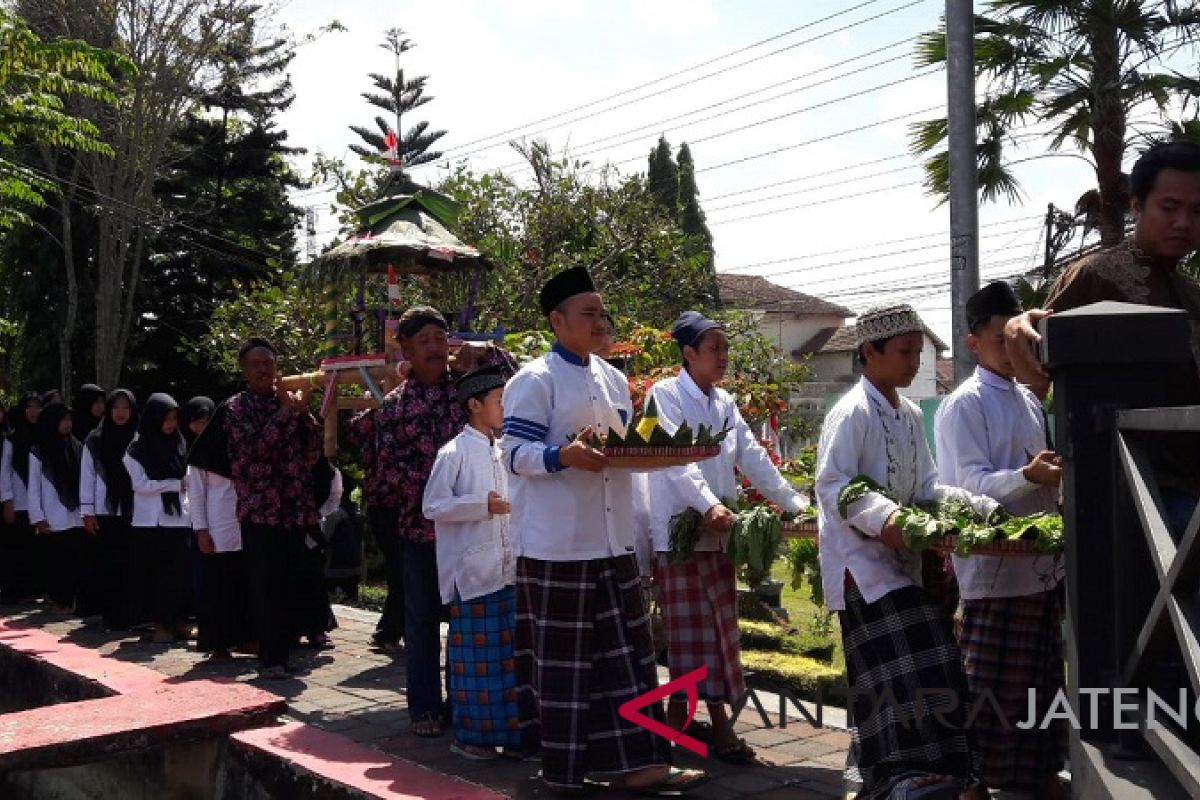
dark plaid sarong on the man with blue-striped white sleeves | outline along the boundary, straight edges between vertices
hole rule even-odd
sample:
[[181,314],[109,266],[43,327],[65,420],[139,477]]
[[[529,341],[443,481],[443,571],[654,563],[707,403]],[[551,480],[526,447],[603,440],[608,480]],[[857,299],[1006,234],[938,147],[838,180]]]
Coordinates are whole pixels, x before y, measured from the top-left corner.
[[[521,706],[536,706],[542,780],[577,788],[589,772],[671,762],[670,745],[617,712],[658,686],[635,557],[517,559]],[[641,710],[664,721],[660,704]]]

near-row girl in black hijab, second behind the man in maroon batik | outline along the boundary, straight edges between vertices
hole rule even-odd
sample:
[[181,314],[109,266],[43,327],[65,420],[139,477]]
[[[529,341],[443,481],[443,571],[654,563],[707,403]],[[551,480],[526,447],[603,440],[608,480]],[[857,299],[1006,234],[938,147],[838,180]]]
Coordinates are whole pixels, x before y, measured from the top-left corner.
[[133,486],[131,583],[145,582],[144,609],[133,620],[154,622],[154,640],[184,639],[192,596],[184,476],[187,444],[179,425],[179,404],[155,393],[138,421],[138,435],[124,459]]

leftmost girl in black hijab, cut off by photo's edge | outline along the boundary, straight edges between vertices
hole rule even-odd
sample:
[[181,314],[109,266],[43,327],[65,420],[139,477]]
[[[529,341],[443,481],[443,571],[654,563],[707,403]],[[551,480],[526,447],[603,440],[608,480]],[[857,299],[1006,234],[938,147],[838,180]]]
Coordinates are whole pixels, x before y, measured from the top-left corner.
[[0,457],[0,500],[7,528],[4,542],[4,572],[0,591],[6,603],[32,600],[42,590],[37,540],[29,524],[29,451],[35,444],[42,398],[25,395],[8,415],[11,433]]

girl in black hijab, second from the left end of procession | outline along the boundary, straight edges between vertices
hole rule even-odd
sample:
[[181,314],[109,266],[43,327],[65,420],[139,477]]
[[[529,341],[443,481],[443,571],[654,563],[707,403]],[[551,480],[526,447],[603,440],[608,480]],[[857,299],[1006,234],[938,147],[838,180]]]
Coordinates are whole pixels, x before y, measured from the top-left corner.
[[66,405],[49,403],[37,420],[37,444],[29,455],[29,521],[37,530],[47,594],[60,614],[77,610],[83,572],[83,445],[71,433],[71,422]]

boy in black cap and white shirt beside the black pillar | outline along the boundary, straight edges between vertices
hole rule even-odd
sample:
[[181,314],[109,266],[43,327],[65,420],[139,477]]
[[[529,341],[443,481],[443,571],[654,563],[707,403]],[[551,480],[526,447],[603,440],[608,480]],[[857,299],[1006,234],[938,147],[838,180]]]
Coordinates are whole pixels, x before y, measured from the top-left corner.
[[[1046,449],[1042,403],[1014,380],[1004,350],[1004,325],[1021,313],[1020,302],[1007,283],[996,282],[967,300],[966,312],[966,344],[979,366],[937,410],[938,477],[1014,515],[1057,511],[1062,470]],[[1025,718],[1028,691],[1037,688],[1040,718],[1063,686],[1061,560],[955,555],[954,572],[962,599],[955,627],[971,691],[990,692],[1015,721]],[[989,787],[1066,796],[1057,778],[1066,763],[1066,724],[1014,729],[983,703],[972,733]]]

